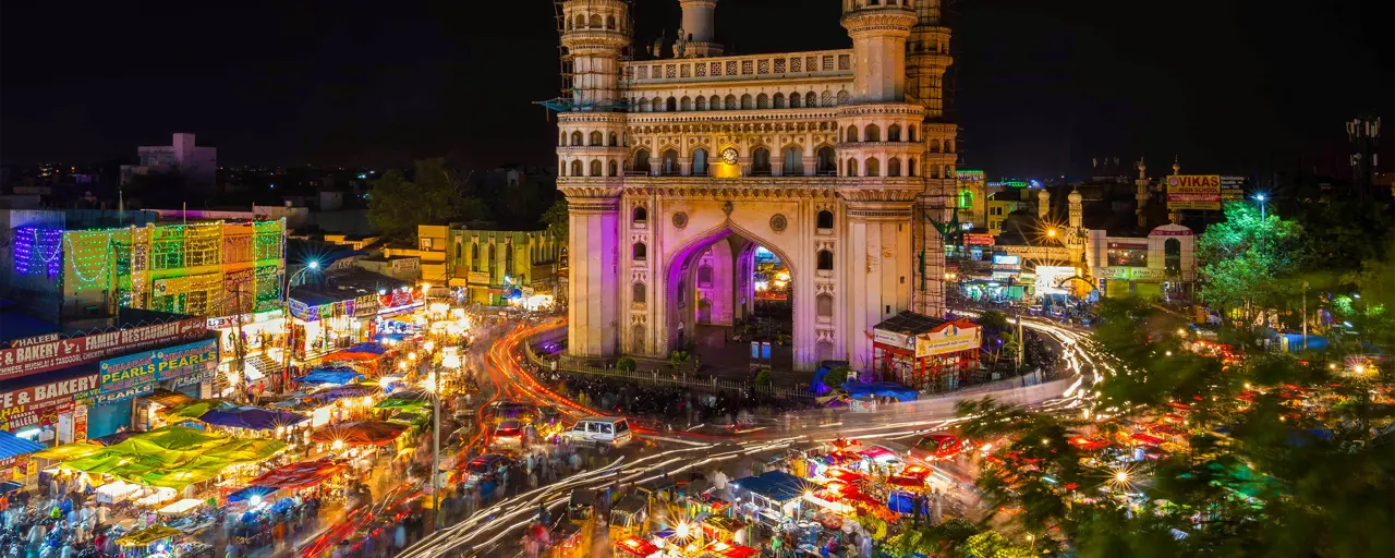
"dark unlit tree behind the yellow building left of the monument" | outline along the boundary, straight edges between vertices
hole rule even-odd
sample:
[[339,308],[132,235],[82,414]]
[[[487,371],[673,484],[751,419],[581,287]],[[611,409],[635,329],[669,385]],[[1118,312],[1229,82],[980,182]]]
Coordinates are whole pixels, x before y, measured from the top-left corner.
[[388,170],[368,193],[368,220],[391,239],[414,237],[418,225],[484,215],[484,204],[465,195],[459,173],[439,158],[417,160],[412,180],[396,169]]

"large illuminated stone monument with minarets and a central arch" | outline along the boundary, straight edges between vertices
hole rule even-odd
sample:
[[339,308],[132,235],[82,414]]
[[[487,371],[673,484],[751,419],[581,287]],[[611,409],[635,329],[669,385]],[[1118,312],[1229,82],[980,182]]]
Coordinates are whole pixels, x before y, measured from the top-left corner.
[[844,0],[851,49],[749,56],[723,56],[716,0],[679,3],[653,60],[628,57],[628,1],[558,3],[571,354],[667,357],[748,317],[759,246],[791,271],[795,368],[868,368],[877,322],[943,311],[940,1]]

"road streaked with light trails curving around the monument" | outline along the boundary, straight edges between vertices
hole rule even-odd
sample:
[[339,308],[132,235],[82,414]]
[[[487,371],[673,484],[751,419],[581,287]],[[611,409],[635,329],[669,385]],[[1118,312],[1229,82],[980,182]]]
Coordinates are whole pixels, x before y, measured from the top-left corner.
[[[491,400],[512,399],[550,405],[569,418],[598,414],[538,382],[522,357],[522,343],[562,325],[554,321],[518,328],[488,349],[481,370],[497,386]],[[1069,378],[1025,388],[997,385],[1000,389],[996,391],[970,389],[942,398],[883,406],[872,413],[845,414],[843,410],[830,409],[794,412],[781,417],[764,417],[759,427],[730,438],[681,431],[665,434],[640,431],[640,437],[651,442],[646,444],[649,449],[629,452],[631,455],[615,458],[604,467],[499,501],[455,526],[434,533],[400,555],[427,558],[518,554],[518,538],[523,527],[534,520],[538,506],[548,506],[551,515],[557,518],[565,512],[573,488],[600,490],[614,483],[617,474],[619,483],[629,484],[643,483],[665,473],[677,477],[693,469],[704,473],[717,467],[735,470],[735,465],[742,459],[762,459],[795,444],[827,442],[837,438],[911,442],[923,432],[942,430],[958,421],[960,418],[954,416],[954,403],[963,399],[993,396],[1041,412],[1083,409],[1094,395],[1091,386],[1112,372],[1112,360],[1088,338],[1088,332],[1034,319],[1025,319],[1023,326],[1049,336],[1063,349]],[[940,467],[936,476],[951,484],[968,481],[963,473]]]

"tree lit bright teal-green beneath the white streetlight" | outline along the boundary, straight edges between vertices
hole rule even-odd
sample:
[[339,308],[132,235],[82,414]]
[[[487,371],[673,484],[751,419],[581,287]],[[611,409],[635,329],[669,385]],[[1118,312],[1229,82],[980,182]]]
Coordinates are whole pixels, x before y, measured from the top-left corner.
[[1303,226],[1246,202],[1225,206],[1226,220],[1211,225],[1197,239],[1197,273],[1201,299],[1229,314],[1237,310],[1251,322],[1268,308],[1289,308],[1300,283],[1309,243]]

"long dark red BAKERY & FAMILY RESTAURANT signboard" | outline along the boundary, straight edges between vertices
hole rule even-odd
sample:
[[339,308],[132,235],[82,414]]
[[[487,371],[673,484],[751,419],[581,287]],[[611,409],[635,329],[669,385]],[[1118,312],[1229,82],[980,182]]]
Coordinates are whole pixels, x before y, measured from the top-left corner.
[[145,325],[106,333],[0,349],[0,379],[95,363],[113,354],[151,347],[176,340],[191,340],[204,335],[204,318]]

